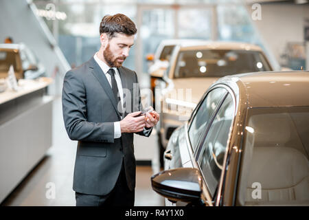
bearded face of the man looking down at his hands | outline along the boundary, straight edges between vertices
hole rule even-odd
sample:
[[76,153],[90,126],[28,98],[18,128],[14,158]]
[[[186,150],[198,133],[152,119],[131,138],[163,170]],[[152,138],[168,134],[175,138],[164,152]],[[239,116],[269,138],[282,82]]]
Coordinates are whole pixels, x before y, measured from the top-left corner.
[[134,43],[134,35],[115,34],[103,52],[104,59],[110,67],[121,67]]

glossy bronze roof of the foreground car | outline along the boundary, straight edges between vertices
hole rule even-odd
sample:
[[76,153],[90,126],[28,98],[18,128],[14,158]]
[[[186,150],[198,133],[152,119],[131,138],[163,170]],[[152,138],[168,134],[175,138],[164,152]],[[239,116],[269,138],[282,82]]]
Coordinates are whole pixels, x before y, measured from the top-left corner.
[[[309,106],[309,72],[256,72],[220,78],[248,107]],[[238,91],[237,91],[238,90]]]

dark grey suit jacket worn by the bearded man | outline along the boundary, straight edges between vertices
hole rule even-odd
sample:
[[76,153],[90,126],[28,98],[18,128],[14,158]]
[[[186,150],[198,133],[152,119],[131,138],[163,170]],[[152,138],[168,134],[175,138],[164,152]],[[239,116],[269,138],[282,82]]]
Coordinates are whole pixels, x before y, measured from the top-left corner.
[[[126,97],[126,116],[140,111],[141,97],[135,72],[118,68]],[[137,88],[138,90],[134,89]],[[130,94],[125,91],[130,91]],[[73,190],[90,195],[111,192],[119,175],[122,159],[130,190],[135,188],[136,162],[133,133],[114,139],[114,123],[121,120],[117,103],[102,69],[92,57],[65,74],[62,111],[65,129],[71,140],[78,140]],[[146,136],[151,133],[148,132]],[[140,135],[145,135],[140,132]]]

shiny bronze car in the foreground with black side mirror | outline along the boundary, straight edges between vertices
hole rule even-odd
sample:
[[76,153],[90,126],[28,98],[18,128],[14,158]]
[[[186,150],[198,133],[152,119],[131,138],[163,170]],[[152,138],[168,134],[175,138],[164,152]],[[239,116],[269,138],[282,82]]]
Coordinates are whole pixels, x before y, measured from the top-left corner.
[[309,206],[308,93],[309,72],[220,78],[172,133],[152,188],[167,205]]

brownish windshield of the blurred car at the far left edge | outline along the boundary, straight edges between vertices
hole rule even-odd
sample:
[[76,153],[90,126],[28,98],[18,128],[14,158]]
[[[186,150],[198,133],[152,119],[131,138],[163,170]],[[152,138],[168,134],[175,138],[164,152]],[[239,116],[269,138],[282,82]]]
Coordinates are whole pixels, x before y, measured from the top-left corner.
[[15,72],[20,72],[21,67],[18,58],[18,52],[0,50],[0,72],[8,72],[10,65],[13,65]]

